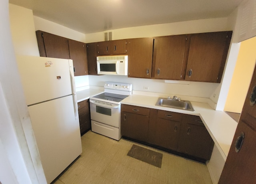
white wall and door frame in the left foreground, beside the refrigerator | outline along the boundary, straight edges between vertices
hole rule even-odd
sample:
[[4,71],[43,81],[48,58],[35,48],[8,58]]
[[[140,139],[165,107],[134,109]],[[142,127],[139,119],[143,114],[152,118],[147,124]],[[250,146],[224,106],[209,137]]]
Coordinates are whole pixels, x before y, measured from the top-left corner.
[[0,181],[45,184],[15,60],[8,6],[8,0],[0,1]]

